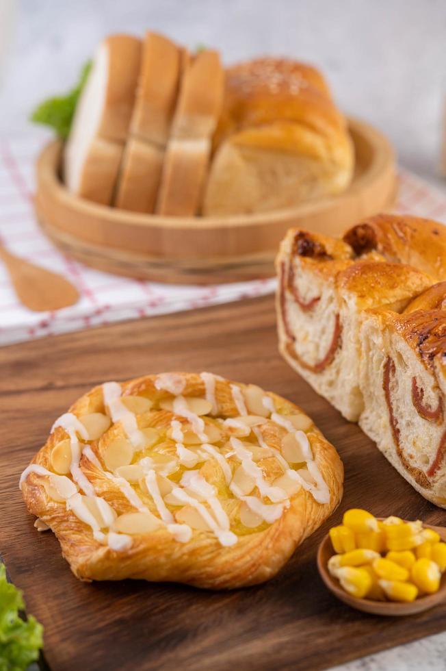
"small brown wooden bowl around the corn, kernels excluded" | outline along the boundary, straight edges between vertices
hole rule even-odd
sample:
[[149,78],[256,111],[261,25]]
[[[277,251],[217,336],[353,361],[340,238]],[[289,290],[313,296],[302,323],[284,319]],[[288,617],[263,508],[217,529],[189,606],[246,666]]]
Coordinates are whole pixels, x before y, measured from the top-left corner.
[[[440,537],[441,540],[446,541],[446,529],[445,527],[432,527],[430,524],[423,524],[423,527],[426,529],[434,529]],[[326,584],[326,587],[333,592],[337,598],[357,610],[364,611],[365,613],[373,613],[373,615],[384,615],[384,616],[403,616],[403,615],[414,615],[415,613],[421,613],[422,611],[427,611],[430,608],[433,608],[438,603],[443,601],[446,598],[446,572],[441,576],[441,583],[438,592],[435,594],[428,594],[427,596],[421,596],[416,598],[412,603],[398,603],[397,601],[373,601],[372,599],[360,599],[356,596],[352,596],[343,590],[339,582],[330,575],[328,572],[328,559],[335,555],[333,547],[331,544],[330,536],[327,534],[324,536],[319,549],[317,550],[317,569],[319,574]]]

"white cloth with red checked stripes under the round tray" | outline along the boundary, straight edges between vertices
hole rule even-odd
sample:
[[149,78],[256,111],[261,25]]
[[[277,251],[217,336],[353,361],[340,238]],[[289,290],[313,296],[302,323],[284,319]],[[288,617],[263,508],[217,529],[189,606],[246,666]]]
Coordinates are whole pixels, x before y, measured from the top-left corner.
[[[107,275],[70,259],[42,234],[34,216],[31,194],[40,145],[41,137],[34,135],[0,143],[0,240],[13,253],[70,279],[81,300],[57,312],[31,312],[18,303],[8,273],[0,264],[0,344],[274,291],[274,279],[207,287],[172,286]],[[446,221],[446,194],[406,170],[400,170],[399,181],[397,211]]]

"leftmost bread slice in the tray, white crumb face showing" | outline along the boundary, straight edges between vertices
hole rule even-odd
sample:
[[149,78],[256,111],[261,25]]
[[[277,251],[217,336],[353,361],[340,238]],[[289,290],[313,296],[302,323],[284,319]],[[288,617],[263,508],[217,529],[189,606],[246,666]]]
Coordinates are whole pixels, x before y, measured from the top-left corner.
[[64,181],[82,198],[109,205],[127,138],[141,42],[111,35],[101,42],[77,104],[64,151]]

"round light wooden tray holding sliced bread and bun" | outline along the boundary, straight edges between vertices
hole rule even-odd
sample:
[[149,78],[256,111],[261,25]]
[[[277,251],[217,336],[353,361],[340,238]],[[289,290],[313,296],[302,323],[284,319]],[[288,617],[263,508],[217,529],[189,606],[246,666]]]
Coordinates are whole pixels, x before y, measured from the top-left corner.
[[215,283],[270,277],[278,243],[290,226],[338,235],[361,218],[386,210],[396,190],[389,142],[370,125],[350,119],[356,169],[338,197],[262,214],[165,217],[95,205],[60,181],[60,142],[37,164],[36,212],[47,235],[79,261],[140,279]]

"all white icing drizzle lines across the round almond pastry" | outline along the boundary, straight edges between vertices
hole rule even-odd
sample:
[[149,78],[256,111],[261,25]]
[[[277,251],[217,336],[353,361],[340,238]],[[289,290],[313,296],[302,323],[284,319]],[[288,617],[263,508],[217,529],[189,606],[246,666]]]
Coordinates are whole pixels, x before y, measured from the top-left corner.
[[[211,403],[212,412],[216,415],[218,414],[218,403],[215,398],[215,379],[222,378],[207,372],[202,372],[200,377],[205,384],[207,401]],[[166,390],[175,396],[173,401],[174,414],[186,418],[192,427],[192,431],[196,433],[202,442],[197,451],[198,454],[186,448],[183,444],[184,434],[181,422],[175,418],[172,419],[172,438],[176,443],[176,453],[179,457],[180,463],[187,468],[193,468],[200,459],[215,459],[215,461],[217,461],[217,463],[222,468],[226,483],[229,485],[231,492],[233,492],[233,495],[236,498],[239,498],[240,501],[244,501],[250,510],[252,510],[252,512],[257,514],[261,519],[265,520],[265,522],[268,522],[269,524],[272,524],[274,521],[280,518],[280,516],[283,514],[284,508],[289,507],[290,505],[287,493],[282,488],[267,483],[263,477],[261,468],[259,468],[259,466],[257,466],[257,464],[254,462],[252,453],[250,453],[244,444],[235,438],[235,436],[231,436],[230,438],[233,451],[227,453],[225,456],[222,455],[220,451],[218,451],[218,448],[215,448],[215,446],[207,442],[208,437],[205,433],[204,420],[202,420],[200,416],[189,409],[187,401],[182,395],[182,392],[185,388],[185,380],[183,377],[175,373],[159,375],[155,379],[155,387],[159,390]],[[237,385],[231,384],[231,393],[233,395],[233,401],[237,407],[239,415],[248,415],[241,389]],[[127,407],[122,403],[120,385],[116,382],[104,383],[103,397],[104,403],[109,409],[109,414],[112,418],[112,421],[121,422],[124,433],[127,434],[127,437],[133,446],[143,446],[144,435],[137,427],[135,414],[130,412],[129,409],[127,409]],[[278,459],[280,466],[282,466],[284,472],[289,477],[291,477],[291,479],[298,481],[300,485],[302,485],[302,488],[310,492],[315,498],[315,501],[318,503],[328,503],[328,501],[330,501],[330,492],[322,477],[322,474],[319,471],[319,468],[317,467],[316,462],[313,459],[311,446],[305,433],[303,431],[296,431],[287,418],[276,412],[274,401],[270,396],[265,395],[263,397],[263,406],[270,412],[273,422],[285,428],[287,431],[289,431],[289,433],[293,433],[293,435],[295,435],[296,440],[299,442],[302,448],[302,454],[304,455],[308,472],[313,478],[314,483],[309,482],[307,478],[303,477],[304,473],[300,475],[298,471],[290,468],[287,460],[284,459],[280,451],[268,445],[267,442],[263,439],[263,435],[259,427],[247,427],[244,422],[237,420],[237,418],[228,418],[224,420],[223,424],[228,427],[236,427],[240,429],[251,428],[251,430],[254,432],[254,435],[257,437],[259,445],[262,448],[269,449],[271,453],[274,454],[276,459]],[[94,455],[90,445],[81,445],[81,443],[79,443],[77,434],[79,434],[83,440],[88,440],[88,433],[74,414],[66,413],[62,415],[58,420],[56,420],[55,424],[53,425],[53,430],[56,427],[62,427],[64,431],[68,433],[70,438],[72,455],[70,472],[71,476],[73,477],[74,487],[71,489],[66,488],[66,486],[62,487],[62,484],[64,483],[60,483],[60,489],[62,492],[60,496],[65,499],[67,510],[73,511],[79,520],[85,524],[88,524],[88,526],[92,529],[94,538],[98,542],[101,542],[102,544],[107,543],[109,548],[112,550],[127,550],[131,547],[133,540],[130,535],[109,531],[114,522],[115,514],[112,510],[109,509],[109,505],[105,499],[95,496],[92,483],[90,483],[85,474],[83,474],[79,466],[81,455],[86,455],[88,460],[94,464],[96,468],[101,470],[107,479],[115,483],[122,494],[124,494],[124,496],[127,498],[127,501],[129,501],[129,503],[135,509],[137,509],[137,511],[148,513],[150,512],[148,507],[144,505],[140,497],[136,494],[135,490],[133,490],[130,483],[127,482],[126,479],[103,470],[99,459],[97,459],[96,455]],[[241,468],[243,468],[248,477],[252,478],[255,485],[259,489],[261,496],[269,498],[270,501],[273,502],[272,504],[263,503],[263,501],[261,501],[261,499],[257,496],[244,496],[237,485],[235,485],[234,482],[231,482],[233,480],[233,472],[231,470],[231,466],[227,462],[227,459],[232,455],[235,455],[237,459],[239,459],[241,462]],[[173,459],[173,461],[175,460]],[[177,464],[177,462],[175,463]],[[166,503],[164,503],[163,497],[161,496],[161,492],[159,490],[157,472],[166,475],[170,474],[172,470],[168,468],[169,464],[166,466],[166,468],[157,468],[155,461],[151,457],[144,457],[140,460],[139,465],[144,472],[148,493],[153,499],[153,503],[155,504],[159,514],[160,523],[163,524],[163,526],[170,533],[172,533],[175,540],[179,542],[189,541],[189,539],[192,537],[192,529],[187,524],[176,524],[174,521],[174,516],[166,506]],[[57,474],[54,474],[39,464],[30,464],[21,474],[19,483],[21,488],[23,486],[23,481],[25,481],[28,474],[31,472],[50,476],[51,483],[55,485],[56,488],[58,482],[54,481],[54,479],[66,479],[64,476],[58,476]],[[98,520],[96,520],[96,517],[92,514],[86,503],[83,501],[83,497],[81,494],[79,494],[79,491],[75,490],[75,485],[77,485],[79,489],[83,490],[87,496],[95,496],[97,506],[99,507],[99,511],[101,511],[101,524],[105,524],[106,528],[108,527],[107,533],[104,533],[101,530]],[[185,491],[183,488],[187,488],[187,490],[189,490],[189,492],[192,494],[196,494],[199,498],[205,499],[209,509],[206,505],[200,503],[197,498],[194,498],[194,496],[188,494],[187,491]],[[57,488],[57,490],[58,489],[59,488]],[[72,493],[73,491],[75,493]],[[180,485],[173,487],[172,495],[175,496],[179,502],[194,507],[194,509],[198,511],[198,514],[200,514],[209,529],[213,531],[223,546],[232,546],[237,542],[237,536],[231,531],[228,516],[218,499],[217,490],[213,485],[208,483],[205,478],[200,476],[198,470],[186,471],[183,474]]]

